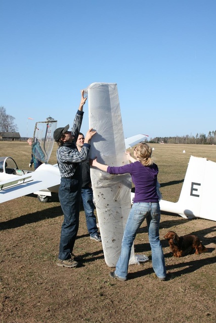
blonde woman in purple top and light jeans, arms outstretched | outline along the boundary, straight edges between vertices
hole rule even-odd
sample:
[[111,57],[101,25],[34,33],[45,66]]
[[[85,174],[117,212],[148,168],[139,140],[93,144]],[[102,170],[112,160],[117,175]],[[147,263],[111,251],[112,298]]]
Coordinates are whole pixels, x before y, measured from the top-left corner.
[[116,264],[116,269],[109,275],[120,281],[127,280],[127,271],[131,248],[136,238],[138,229],[146,219],[149,242],[152,251],[152,266],[160,280],[166,279],[166,268],[162,246],[159,239],[160,205],[157,195],[158,167],[151,158],[152,149],[146,143],[140,143],[134,149],[134,156],[126,152],[128,160],[133,161],[121,167],[110,167],[98,163],[97,158],[92,161],[92,166],[110,174],[126,174],[132,176],[135,184],[134,204],[124,229],[121,243],[121,254]]

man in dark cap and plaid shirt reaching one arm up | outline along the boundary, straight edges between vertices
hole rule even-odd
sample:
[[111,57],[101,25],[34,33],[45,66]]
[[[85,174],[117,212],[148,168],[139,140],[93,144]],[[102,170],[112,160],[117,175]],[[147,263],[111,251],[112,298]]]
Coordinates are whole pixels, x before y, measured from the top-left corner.
[[57,128],[54,131],[54,139],[58,144],[56,152],[61,183],[59,187],[59,200],[64,213],[64,221],[61,229],[59,257],[57,264],[64,267],[76,267],[78,262],[74,260],[73,246],[79,227],[79,205],[81,196],[81,161],[88,158],[90,150],[90,139],[96,131],[90,129],[84,140],[83,147],[77,150],[76,141],[83,117],[83,105],[87,98],[81,93],[81,100],[78,111],[75,115],[71,132],[69,125],[64,128]]

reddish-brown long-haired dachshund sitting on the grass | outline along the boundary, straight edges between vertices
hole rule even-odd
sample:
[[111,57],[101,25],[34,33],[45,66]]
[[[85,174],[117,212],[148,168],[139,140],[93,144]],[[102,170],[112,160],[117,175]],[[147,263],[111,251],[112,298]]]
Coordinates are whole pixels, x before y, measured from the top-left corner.
[[169,248],[175,257],[182,257],[193,249],[196,250],[195,254],[208,252],[208,249],[201,244],[199,238],[192,234],[179,237],[176,232],[169,231],[164,238],[168,240]]

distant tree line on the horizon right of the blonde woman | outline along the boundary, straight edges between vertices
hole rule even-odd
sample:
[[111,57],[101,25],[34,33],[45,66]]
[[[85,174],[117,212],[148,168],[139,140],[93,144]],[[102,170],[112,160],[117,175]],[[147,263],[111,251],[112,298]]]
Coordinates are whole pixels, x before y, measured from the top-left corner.
[[215,145],[216,144],[216,130],[209,131],[206,136],[204,133],[196,134],[196,136],[175,136],[175,137],[155,137],[150,138],[149,143],[181,143],[181,144],[195,144],[195,145]]

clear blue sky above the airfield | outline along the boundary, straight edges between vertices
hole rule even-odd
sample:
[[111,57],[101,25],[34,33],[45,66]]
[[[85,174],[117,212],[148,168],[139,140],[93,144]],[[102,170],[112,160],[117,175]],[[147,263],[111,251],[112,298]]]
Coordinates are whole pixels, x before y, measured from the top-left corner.
[[0,106],[32,136],[49,116],[72,126],[82,88],[117,83],[125,137],[207,135],[215,16],[215,0],[1,0]]

